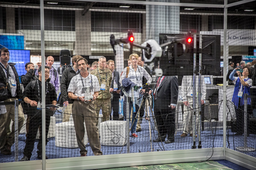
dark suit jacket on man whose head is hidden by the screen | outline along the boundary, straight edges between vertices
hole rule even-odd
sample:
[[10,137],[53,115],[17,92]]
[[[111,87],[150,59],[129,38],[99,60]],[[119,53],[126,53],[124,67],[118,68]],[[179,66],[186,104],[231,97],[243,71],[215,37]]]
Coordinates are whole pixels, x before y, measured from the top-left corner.
[[[156,77],[156,82],[159,77]],[[153,87],[153,91],[155,90],[155,86]],[[154,106],[158,109],[169,110],[168,105],[177,104],[178,94],[179,94],[179,85],[178,79],[176,76],[165,76],[162,80],[161,84],[156,94],[156,100],[154,101]]]

